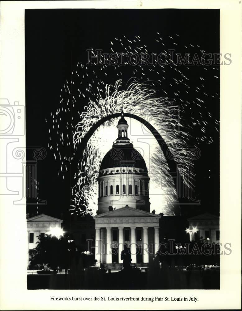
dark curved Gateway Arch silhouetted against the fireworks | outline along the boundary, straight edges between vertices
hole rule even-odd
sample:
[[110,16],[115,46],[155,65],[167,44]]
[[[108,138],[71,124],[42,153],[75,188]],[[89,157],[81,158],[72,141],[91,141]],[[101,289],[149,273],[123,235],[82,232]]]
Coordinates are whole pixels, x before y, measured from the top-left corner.
[[[162,136],[159,134],[159,132],[144,118],[141,118],[135,114],[130,114],[130,113],[116,113],[116,114],[109,114],[106,117],[102,118],[101,120],[98,120],[97,123],[95,123],[92,128],[89,129],[89,131],[85,134],[85,136],[82,138],[81,141],[81,146],[83,147],[83,150],[86,146],[86,144],[88,143],[89,139],[91,138],[91,136],[94,134],[94,132],[98,129],[99,126],[101,126],[103,123],[105,123],[106,121],[109,121],[113,118],[118,118],[118,117],[128,117],[128,118],[133,118],[137,121],[139,121],[140,123],[142,123],[144,126],[146,126],[146,128],[148,128],[148,130],[153,134],[153,136],[155,137],[155,139],[157,140],[165,158],[167,161],[167,165],[170,169],[170,175],[171,178],[173,180],[173,183],[175,185],[175,189],[176,189],[176,200],[178,200],[180,205],[184,205],[185,203],[185,195],[184,195],[184,189],[186,187],[186,185],[184,184],[183,178],[180,175],[180,172],[177,168],[177,164],[176,161],[174,160],[171,151],[169,150],[166,142],[164,141],[164,139],[162,138]],[[183,195],[181,195],[181,191],[183,190]],[[176,212],[176,215],[178,213]],[[179,213],[180,214],[180,213]]]

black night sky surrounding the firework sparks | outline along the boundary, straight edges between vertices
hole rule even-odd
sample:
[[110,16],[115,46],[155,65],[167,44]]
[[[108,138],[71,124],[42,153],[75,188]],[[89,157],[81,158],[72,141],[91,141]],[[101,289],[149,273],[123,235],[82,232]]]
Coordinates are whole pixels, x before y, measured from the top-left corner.
[[[166,47],[176,49],[179,53],[188,52],[185,46],[189,43],[198,44],[206,52],[219,53],[219,10],[25,10],[26,147],[41,146],[47,151],[46,158],[39,160],[37,166],[39,199],[47,201],[45,207],[39,206],[39,211],[60,217],[60,213],[68,211],[70,206],[73,176],[70,173],[69,179],[65,180],[58,176],[60,165],[48,148],[49,125],[45,122],[45,118],[59,107],[60,90],[66,79],[71,79],[71,72],[78,62],[87,63],[87,49],[110,52],[110,40],[123,35],[134,38],[139,34],[142,42],[147,43],[149,53],[158,52],[160,46],[154,39],[157,32],[164,38]],[[177,46],[169,46],[169,36],[174,38],[176,34],[179,34],[176,37]],[[187,70],[183,67],[177,69]],[[204,81],[206,94],[203,98],[211,95],[205,101],[206,110],[195,104],[192,109],[190,105],[184,106],[185,121],[191,122],[191,113],[198,115],[201,120],[208,122],[205,135],[213,139],[211,144],[206,139],[197,141],[196,137],[201,137],[202,125],[196,124],[190,129],[193,137],[190,145],[197,144],[201,150],[201,157],[195,161],[194,169],[195,196],[202,205],[194,207],[193,214],[198,211],[219,214],[219,125],[215,123],[216,119],[219,120],[219,79],[214,78],[214,74],[219,77],[218,67],[208,66],[208,72],[212,74],[208,76],[208,81]],[[122,69],[123,81],[130,79],[131,69]],[[192,74],[189,77],[194,75],[194,82],[190,79],[189,85],[194,83],[195,89],[199,80],[197,77],[202,76],[204,68],[194,66],[190,70]],[[110,74],[105,77],[105,83],[112,84],[116,79]],[[164,90],[167,96],[174,96],[171,80],[171,73],[166,72],[166,82],[158,89],[160,96],[166,96]],[[216,93],[217,96],[214,96]],[[195,98],[194,94],[185,92],[179,95],[191,104]],[[88,98],[85,104],[88,104]],[[27,156],[28,160],[32,160],[32,153],[28,149]],[[27,209],[30,215],[36,212],[35,206],[28,205]]]

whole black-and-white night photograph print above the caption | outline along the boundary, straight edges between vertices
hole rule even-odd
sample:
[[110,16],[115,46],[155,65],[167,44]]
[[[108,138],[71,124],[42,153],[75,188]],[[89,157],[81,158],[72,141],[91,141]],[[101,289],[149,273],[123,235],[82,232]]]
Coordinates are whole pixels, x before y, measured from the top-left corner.
[[219,9],[25,10],[29,290],[220,289],[219,30]]

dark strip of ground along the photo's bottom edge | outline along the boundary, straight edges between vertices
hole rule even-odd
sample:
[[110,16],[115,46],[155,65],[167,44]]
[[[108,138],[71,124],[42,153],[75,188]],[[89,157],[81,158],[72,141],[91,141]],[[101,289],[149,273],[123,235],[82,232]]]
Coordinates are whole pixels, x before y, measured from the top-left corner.
[[153,273],[103,273],[86,269],[71,274],[27,276],[28,289],[219,289],[219,270],[176,271],[173,269]]

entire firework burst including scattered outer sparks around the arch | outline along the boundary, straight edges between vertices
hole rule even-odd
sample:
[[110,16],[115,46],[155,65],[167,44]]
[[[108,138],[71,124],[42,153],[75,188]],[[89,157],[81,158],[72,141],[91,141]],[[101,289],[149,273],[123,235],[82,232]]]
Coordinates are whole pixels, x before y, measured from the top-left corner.
[[[160,46],[164,53],[167,53],[171,44],[184,45],[182,39],[177,34],[169,36],[169,38],[161,38],[160,33],[157,33],[157,35],[158,37],[155,40],[161,44]],[[205,52],[199,45],[187,43],[184,47],[185,49],[189,47],[189,53],[191,49],[199,50],[201,55]],[[114,38],[111,42],[112,52],[121,51],[121,53],[129,54],[134,52],[147,53],[148,50],[148,46],[141,43],[139,36],[135,36],[133,39],[123,36],[123,38]],[[94,50],[92,53],[95,56]],[[171,56],[171,54],[169,55]],[[144,66],[129,66],[130,77],[133,77],[135,82],[131,83],[127,88],[122,86],[121,83],[122,66],[101,65],[104,57],[101,55],[101,58],[102,61],[99,61],[98,67],[87,67],[80,62],[77,64],[77,69],[72,71],[71,80],[66,80],[61,89],[60,106],[55,113],[51,114],[53,126],[49,129],[50,142],[48,146],[50,150],[54,151],[55,159],[60,160],[61,165],[58,174],[63,174],[64,178],[65,172],[68,171],[70,163],[75,156],[78,144],[81,143],[81,139],[91,126],[102,117],[121,112],[123,109],[125,112],[137,114],[141,117],[144,117],[143,114],[145,112],[145,115],[148,115],[148,121],[162,135],[169,148],[171,150],[180,149],[179,156],[176,156],[175,160],[183,165],[182,168],[180,167],[180,172],[184,177],[185,183],[192,188],[192,179],[194,177],[192,173],[193,164],[189,159],[189,152],[187,151],[189,132],[195,128],[200,129],[201,134],[195,137],[198,145],[204,141],[208,144],[213,142],[213,137],[209,132],[211,120],[208,120],[210,123],[206,121],[213,116],[207,110],[205,103],[214,102],[218,94],[208,94],[206,81],[209,83],[212,79],[217,79],[214,73],[218,68],[201,66],[201,76],[199,76],[197,73],[194,75],[193,67],[180,66],[180,70],[178,70],[176,65],[162,66],[155,64],[146,66],[148,69],[144,71]],[[167,59],[167,63],[169,60],[171,58]],[[128,66],[127,63],[126,65]],[[93,68],[95,68],[95,71]],[[118,80],[115,83],[113,82],[112,85],[110,84],[110,76],[114,74]],[[107,83],[103,81],[104,79]],[[196,81],[194,81],[195,79]],[[170,96],[171,98],[158,97],[155,91],[157,89],[164,96]],[[181,112],[190,115],[189,122],[185,123],[186,127],[183,123],[182,113],[179,115],[179,118],[177,118],[177,115],[174,118],[172,101],[175,101],[174,105],[178,105]],[[84,108],[82,103],[86,105]],[[198,106],[200,110],[193,109],[194,106]],[[83,110],[84,112],[80,113]],[[66,118],[66,114],[69,118]],[[97,201],[96,177],[100,160],[104,156],[101,151],[103,140],[98,137],[98,133],[105,126],[114,125],[116,122],[117,120],[114,119],[107,121],[94,133],[88,142],[83,158],[78,165],[77,173],[74,176],[77,183],[73,188],[73,212],[81,212],[84,209],[93,211],[95,209],[93,204]],[[217,120],[215,125],[218,125]],[[217,127],[215,128],[217,130]],[[58,142],[55,142],[55,146],[52,146],[53,137],[55,136],[57,136]],[[194,146],[196,146],[196,143]],[[160,165],[160,158],[162,165]],[[161,166],[161,171],[155,169],[159,166]],[[162,174],[163,179],[165,177],[167,188],[171,188],[172,180],[168,174],[164,155],[160,154],[159,147],[156,148],[152,156],[151,170],[156,173],[155,181],[157,183]],[[172,187],[172,189],[174,188]],[[172,201],[172,197],[173,194],[167,195],[167,202]]]

